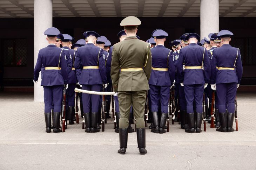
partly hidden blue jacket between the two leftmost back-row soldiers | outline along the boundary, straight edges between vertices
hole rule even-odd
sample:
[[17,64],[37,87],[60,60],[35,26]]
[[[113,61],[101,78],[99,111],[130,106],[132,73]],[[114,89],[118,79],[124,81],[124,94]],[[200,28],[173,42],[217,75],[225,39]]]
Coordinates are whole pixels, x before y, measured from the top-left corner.
[[[68,65],[71,64],[72,68],[74,68],[74,63],[75,63],[75,55],[76,55],[76,51],[73,49],[70,49],[68,47],[62,47],[63,49],[67,49],[67,63]],[[77,80],[76,80],[76,72],[75,70],[70,69],[70,72],[68,74],[68,84],[76,84]]]

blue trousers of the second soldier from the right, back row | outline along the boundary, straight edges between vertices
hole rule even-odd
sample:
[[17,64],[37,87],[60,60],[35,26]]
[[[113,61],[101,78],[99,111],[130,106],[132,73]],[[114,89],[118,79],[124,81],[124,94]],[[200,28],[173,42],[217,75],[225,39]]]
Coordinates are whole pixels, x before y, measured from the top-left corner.
[[184,92],[187,102],[187,113],[194,113],[194,101],[196,105],[196,112],[203,112],[203,86],[204,84],[184,85]]

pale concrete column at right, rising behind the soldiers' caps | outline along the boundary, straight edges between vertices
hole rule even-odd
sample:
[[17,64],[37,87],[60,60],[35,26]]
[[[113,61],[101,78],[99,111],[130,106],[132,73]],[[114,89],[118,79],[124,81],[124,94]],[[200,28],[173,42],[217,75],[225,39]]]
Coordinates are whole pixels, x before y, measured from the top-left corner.
[[[200,5],[201,39],[209,33],[219,31],[219,0],[201,0]],[[209,38],[208,38],[209,39]]]

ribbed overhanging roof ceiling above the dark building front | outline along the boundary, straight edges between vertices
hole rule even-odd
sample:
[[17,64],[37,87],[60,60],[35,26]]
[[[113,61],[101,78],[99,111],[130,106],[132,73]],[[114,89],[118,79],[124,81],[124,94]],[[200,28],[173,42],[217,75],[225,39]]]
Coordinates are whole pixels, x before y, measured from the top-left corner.
[[[256,17],[256,0],[219,0],[219,2],[220,17]],[[0,17],[33,17],[33,15],[34,0],[0,0]],[[53,0],[53,17],[130,15],[200,17],[200,0]]]

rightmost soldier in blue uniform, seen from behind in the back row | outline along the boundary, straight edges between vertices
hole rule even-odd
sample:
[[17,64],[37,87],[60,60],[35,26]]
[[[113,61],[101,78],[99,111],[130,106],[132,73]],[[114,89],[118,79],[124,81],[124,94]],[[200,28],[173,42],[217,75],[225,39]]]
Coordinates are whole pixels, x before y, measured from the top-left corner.
[[211,88],[217,93],[221,124],[216,130],[233,132],[236,89],[241,82],[243,66],[239,48],[229,45],[233,33],[221,30],[217,35],[221,37],[223,45],[214,49],[211,61]]

